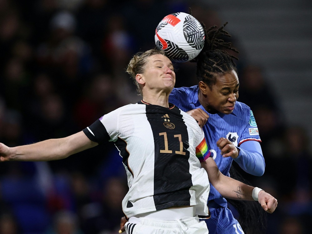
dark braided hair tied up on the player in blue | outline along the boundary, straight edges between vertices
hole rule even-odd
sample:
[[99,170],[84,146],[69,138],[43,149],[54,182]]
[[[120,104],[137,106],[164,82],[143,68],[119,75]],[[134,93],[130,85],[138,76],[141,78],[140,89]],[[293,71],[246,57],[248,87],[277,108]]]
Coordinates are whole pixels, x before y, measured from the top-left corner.
[[217,29],[212,26],[206,30],[205,25],[202,26],[205,31],[205,45],[201,53],[195,58],[197,62],[196,76],[199,81],[204,81],[208,86],[216,83],[216,77],[223,75],[236,66],[233,58],[225,49],[239,53],[235,48],[231,47],[231,42],[225,42],[222,37],[231,37],[231,35],[223,30],[227,22]]

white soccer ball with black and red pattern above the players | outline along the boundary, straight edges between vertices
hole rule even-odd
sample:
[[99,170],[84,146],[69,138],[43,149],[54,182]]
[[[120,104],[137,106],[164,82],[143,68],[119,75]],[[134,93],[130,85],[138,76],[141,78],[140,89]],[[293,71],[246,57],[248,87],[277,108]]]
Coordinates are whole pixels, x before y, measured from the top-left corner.
[[204,42],[205,32],[200,22],[184,12],[167,15],[156,28],[156,47],[175,62],[195,58],[203,49]]

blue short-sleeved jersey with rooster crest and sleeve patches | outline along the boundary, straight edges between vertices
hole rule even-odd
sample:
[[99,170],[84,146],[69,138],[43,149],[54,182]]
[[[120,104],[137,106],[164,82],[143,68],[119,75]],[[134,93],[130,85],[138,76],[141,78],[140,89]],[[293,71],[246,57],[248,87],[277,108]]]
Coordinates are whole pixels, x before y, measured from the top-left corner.
[[[226,137],[235,146],[240,146],[240,144],[248,140],[261,142],[253,113],[250,107],[244,103],[236,101],[235,108],[229,115],[220,112],[209,114],[198,100],[198,85],[174,88],[169,96],[169,102],[183,111],[201,108],[209,115],[203,131],[215,163],[224,175],[230,176],[229,171],[233,158],[222,157],[221,151],[216,145],[220,137]],[[222,207],[227,207],[225,198],[213,186],[210,186],[208,201],[210,200],[214,200]]]

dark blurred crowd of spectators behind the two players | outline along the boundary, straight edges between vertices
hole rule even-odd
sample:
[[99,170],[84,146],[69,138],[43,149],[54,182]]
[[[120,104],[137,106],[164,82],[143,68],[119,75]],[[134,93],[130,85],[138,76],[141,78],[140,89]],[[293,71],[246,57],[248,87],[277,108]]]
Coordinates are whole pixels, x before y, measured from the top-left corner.
[[[155,28],[170,13],[191,7],[207,27],[221,26],[218,10],[204,2],[0,0],[0,142],[65,137],[139,101],[125,72],[131,56],[155,47]],[[239,101],[254,112],[266,163],[262,177],[240,173],[278,199],[267,233],[310,233],[312,157],[305,123],[285,121],[280,100],[287,94],[279,96],[265,67],[248,60],[230,23],[225,30],[240,51]],[[197,84],[196,64],[175,66],[176,87]],[[1,163],[0,234],[118,233],[126,192],[126,173],[110,143],[61,161]]]

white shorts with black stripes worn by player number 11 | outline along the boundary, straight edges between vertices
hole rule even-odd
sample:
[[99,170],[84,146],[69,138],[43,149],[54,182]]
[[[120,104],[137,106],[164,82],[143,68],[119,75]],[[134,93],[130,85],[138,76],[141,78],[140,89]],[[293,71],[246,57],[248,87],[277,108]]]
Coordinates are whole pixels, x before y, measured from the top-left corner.
[[125,224],[126,233],[208,234],[206,222],[200,221],[198,217],[189,217],[191,213],[189,208],[182,208],[152,212],[142,215],[143,217],[130,217],[129,222]]

